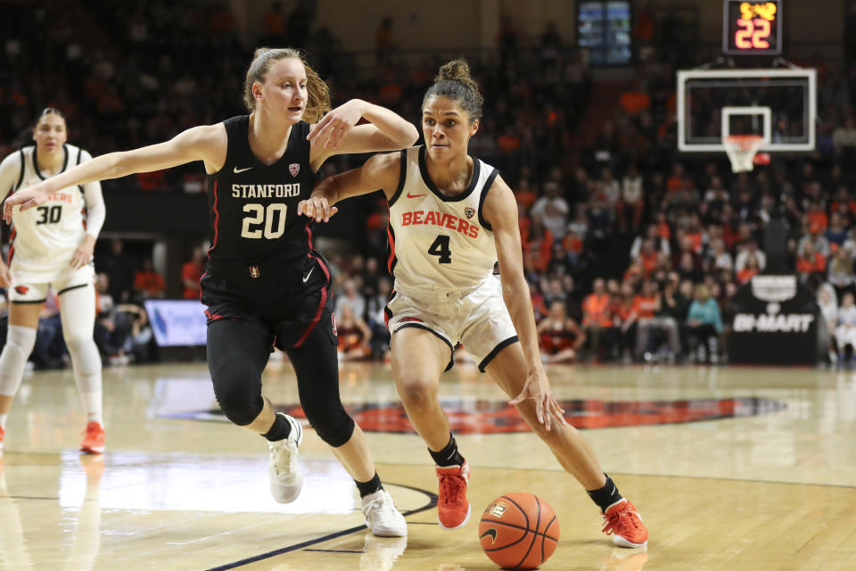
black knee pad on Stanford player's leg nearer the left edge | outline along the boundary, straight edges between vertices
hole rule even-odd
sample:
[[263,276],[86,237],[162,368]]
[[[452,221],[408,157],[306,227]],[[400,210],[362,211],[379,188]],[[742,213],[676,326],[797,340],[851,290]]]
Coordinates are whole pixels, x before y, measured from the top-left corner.
[[226,418],[238,426],[247,426],[259,416],[264,401],[261,398],[261,377],[250,359],[231,360],[212,377],[214,394]]

